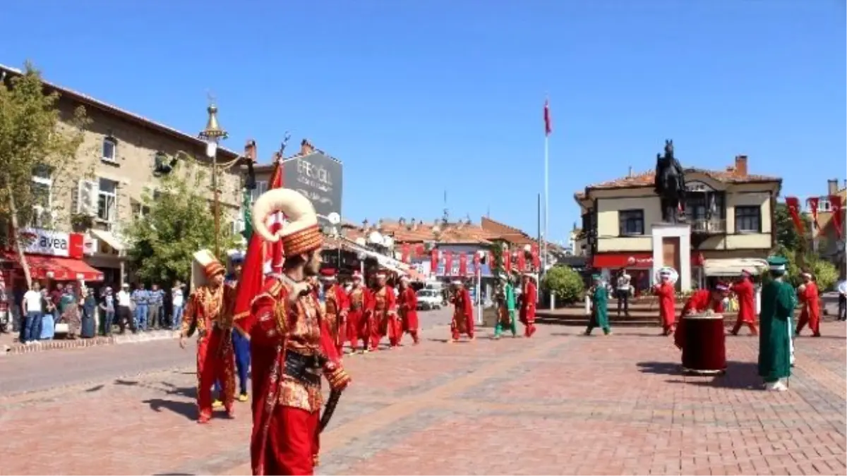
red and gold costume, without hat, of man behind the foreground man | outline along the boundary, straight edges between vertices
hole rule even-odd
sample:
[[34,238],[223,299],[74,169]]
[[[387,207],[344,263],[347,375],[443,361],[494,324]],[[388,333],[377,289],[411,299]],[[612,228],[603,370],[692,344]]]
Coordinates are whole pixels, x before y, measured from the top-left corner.
[[230,332],[234,301],[232,285],[200,286],[188,297],[182,315],[181,335],[188,335],[192,324],[197,331],[197,410],[201,423],[212,417],[212,386],[216,380],[221,383],[226,412],[233,413],[235,354]]

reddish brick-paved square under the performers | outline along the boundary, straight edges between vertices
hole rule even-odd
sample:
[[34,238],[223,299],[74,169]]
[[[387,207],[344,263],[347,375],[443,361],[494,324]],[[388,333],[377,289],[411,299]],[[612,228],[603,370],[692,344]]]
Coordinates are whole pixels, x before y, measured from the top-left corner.
[[[798,340],[791,391],[774,394],[748,336],[713,379],[679,375],[656,329],[447,344],[436,327],[346,358],[318,474],[847,474],[847,324],[823,332]],[[199,426],[193,386],[185,367],[0,399],[0,474],[249,474],[249,405]]]

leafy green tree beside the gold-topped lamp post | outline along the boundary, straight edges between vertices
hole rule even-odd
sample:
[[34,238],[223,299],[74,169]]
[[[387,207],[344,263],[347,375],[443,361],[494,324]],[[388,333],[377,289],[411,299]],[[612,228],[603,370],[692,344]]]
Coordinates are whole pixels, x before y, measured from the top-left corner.
[[[142,197],[149,213],[135,219],[125,231],[130,245],[127,256],[143,281],[188,280],[194,252],[214,247],[212,205],[201,192],[206,172],[187,153],[180,152],[180,156],[185,160],[161,177],[155,191]],[[180,174],[183,168],[187,173]],[[234,247],[236,238],[230,227],[222,225],[220,251]],[[219,259],[223,262],[224,257]]]

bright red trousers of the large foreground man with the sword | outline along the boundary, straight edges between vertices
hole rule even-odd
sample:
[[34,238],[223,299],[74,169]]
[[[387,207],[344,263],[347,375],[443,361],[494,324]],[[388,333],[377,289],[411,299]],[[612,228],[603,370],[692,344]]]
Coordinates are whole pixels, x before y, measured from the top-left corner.
[[320,449],[320,412],[277,405],[268,425],[265,475],[313,476]]

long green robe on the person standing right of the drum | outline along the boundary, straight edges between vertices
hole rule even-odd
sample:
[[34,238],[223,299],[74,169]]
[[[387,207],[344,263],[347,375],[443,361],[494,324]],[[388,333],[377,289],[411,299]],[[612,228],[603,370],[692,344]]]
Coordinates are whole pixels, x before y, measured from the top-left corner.
[[775,382],[791,375],[791,314],[794,288],[772,280],[761,290],[759,316],[759,376]]

